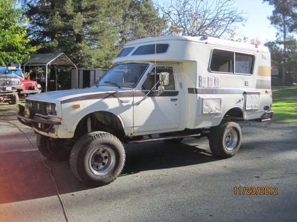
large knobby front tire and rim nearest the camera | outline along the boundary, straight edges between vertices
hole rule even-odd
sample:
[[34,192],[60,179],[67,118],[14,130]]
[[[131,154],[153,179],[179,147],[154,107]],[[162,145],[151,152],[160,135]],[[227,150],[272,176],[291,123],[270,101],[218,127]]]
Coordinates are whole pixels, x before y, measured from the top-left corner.
[[74,175],[89,186],[107,185],[122,172],[125,149],[121,141],[106,132],[92,132],[82,136],[70,154]]

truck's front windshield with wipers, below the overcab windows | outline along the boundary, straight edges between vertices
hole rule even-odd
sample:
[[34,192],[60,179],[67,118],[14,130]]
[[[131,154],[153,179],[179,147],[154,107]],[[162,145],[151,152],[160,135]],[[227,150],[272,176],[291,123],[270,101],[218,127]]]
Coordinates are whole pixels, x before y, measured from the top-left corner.
[[97,80],[96,86],[135,87],[147,68],[146,63],[115,65]]

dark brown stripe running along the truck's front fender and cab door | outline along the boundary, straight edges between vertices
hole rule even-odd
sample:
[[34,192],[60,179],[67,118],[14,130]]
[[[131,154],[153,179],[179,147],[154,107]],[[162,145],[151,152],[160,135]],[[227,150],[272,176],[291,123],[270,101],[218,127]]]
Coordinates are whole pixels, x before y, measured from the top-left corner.
[[[147,93],[148,91],[135,91],[134,97],[144,97]],[[178,94],[179,94],[179,91],[164,91],[159,97],[177,96]],[[151,94],[148,96],[155,97],[156,95]],[[72,102],[83,101],[83,100],[114,99],[114,98],[119,99],[119,98],[125,98],[125,97],[133,97],[133,91],[97,93],[97,94],[90,94],[90,95],[84,95],[84,96],[77,96],[70,99],[62,100],[61,104],[72,103]]]

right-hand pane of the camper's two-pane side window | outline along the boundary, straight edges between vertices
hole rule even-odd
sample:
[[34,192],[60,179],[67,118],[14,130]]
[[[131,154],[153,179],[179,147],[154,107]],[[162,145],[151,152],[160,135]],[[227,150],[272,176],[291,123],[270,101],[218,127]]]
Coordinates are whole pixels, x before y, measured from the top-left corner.
[[252,74],[253,56],[235,53],[235,73]]

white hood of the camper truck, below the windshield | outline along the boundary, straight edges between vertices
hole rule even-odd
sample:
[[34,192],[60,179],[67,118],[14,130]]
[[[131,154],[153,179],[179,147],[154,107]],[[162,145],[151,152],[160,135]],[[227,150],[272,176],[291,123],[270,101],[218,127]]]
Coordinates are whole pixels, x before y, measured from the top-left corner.
[[92,95],[99,93],[109,93],[109,92],[122,92],[122,91],[131,91],[131,88],[122,87],[117,88],[113,86],[99,86],[85,89],[69,89],[69,90],[60,90],[60,91],[52,91],[52,92],[44,92],[40,94],[35,94],[29,96],[30,100],[38,100],[38,101],[62,101],[70,98],[81,97],[84,95]]

